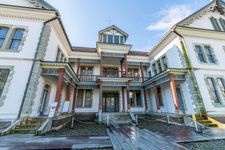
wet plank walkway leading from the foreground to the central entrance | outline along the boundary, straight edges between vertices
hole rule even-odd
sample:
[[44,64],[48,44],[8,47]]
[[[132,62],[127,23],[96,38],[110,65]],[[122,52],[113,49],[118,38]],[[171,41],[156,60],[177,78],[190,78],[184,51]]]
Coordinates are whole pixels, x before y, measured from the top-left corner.
[[186,150],[160,135],[132,125],[111,126],[107,132],[115,150]]

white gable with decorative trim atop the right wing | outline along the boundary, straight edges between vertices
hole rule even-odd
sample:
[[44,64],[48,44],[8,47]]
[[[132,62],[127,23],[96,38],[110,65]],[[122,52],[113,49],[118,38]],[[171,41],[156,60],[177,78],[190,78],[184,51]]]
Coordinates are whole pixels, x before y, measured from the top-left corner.
[[[193,27],[215,30],[215,21],[220,24],[220,19],[225,23],[225,3],[223,0],[213,0],[211,3],[180,21],[177,26]],[[212,19],[213,18],[213,19]]]

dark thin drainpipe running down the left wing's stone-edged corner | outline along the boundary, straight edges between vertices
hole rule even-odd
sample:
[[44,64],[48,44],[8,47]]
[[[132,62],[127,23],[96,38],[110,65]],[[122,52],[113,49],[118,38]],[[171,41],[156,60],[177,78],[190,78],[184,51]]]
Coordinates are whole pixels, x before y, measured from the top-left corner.
[[33,62],[32,62],[32,66],[31,66],[31,70],[30,70],[30,74],[29,74],[29,77],[28,77],[28,81],[27,81],[27,84],[26,84],[26,89],[24,91],[24,95],[23,95],[23,99],[22,99],[22,103],[20,105],[20,109],[19,109],[19,113],[18,113],[18,116],[17,116],[17,120],[20,118],[21,116],[21,113],[22,113],[22,109],[23,109],[23,105],[24,105],[24,101],[25,101],[25,97],[26,97],[26,94],[27,94],[27,91],[28,91],[28,86],[30,84],[30,79],[31,79],[31,76],[32,76],[32,72],[34,70],[34,65],[35,65],[35,62],[37,61],[37,55],[38,55],[38,49],[39,49],[39,46],[40,46],[40,41],[41,41],[41,38],[42,38],[42,35],[43,35],[43,32],[44,32],[44,27],[47,23],[49,22],[52,22],[56,19],[58,19],[59,16],[58,14],[56,13],[56,16],[43,22],[43,27],[42,27],[42,31],[41,31],[41,35],[40,35],[40,38],[39,38],[39,42],[38,42],[38,46],[36,48],[36,52],[35,52],[35,55],[34,55],[34,59],[33,59]]

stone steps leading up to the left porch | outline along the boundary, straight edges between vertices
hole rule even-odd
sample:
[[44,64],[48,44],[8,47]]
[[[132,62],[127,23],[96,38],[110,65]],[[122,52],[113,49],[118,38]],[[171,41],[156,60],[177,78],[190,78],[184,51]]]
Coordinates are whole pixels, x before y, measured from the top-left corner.
[[13,129],[11,134],[36,134],[46,118],[23,118]]

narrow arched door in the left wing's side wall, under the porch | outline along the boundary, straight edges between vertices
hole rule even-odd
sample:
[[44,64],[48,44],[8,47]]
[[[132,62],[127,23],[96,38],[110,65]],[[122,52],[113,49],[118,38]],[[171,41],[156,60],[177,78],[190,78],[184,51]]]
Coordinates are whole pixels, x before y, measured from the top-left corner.
[[42,93],[41,98],[41,108],[40,108],[40,116],[47,116],[49,113],[49,93],[50,93],[50,86],[45,85],[44,91]]

